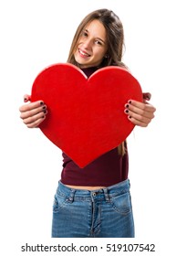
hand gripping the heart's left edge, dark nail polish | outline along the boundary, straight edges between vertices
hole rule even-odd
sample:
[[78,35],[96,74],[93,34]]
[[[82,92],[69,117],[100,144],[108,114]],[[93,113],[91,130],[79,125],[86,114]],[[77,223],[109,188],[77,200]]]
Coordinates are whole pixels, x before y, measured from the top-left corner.
[[[24,101],[30,101],[30,96],[25,95]],[[36,128],[46,119],[47,106],[43,101],[29,102],[19,108],[20,118],[28,128]]]

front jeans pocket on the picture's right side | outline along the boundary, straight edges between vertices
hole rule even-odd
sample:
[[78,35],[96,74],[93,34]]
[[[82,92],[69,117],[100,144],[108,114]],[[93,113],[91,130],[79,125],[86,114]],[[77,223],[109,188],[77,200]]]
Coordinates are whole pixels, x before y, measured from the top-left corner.
[[116,210],[119,214],[126,215],[131,212],[131,200],[129,192],[121,194],[117,197],[111,197],[110,203],[112,208]]

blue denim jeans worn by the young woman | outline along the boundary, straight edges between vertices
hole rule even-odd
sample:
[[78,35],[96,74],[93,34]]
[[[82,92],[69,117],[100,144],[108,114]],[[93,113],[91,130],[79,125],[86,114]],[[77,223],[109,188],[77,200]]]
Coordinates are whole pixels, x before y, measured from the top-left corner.
[[52,238],[133,238],[129,179],[98,189],[72,189],[58,183]]

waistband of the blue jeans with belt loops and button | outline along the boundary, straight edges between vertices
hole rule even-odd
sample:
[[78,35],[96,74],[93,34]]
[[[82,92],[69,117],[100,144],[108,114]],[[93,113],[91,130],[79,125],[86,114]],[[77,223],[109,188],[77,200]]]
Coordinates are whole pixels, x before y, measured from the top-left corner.
[[111,197],[118,197],[121,194],[129,192],[129,179],[126,179],[118,184],[110,187],[86,190],[75,189],[64,185],[61,181],[58,182],[57,195],[60,197],[67,197],[68,201],[92,201],[92,200],[106,200],[109,201]]

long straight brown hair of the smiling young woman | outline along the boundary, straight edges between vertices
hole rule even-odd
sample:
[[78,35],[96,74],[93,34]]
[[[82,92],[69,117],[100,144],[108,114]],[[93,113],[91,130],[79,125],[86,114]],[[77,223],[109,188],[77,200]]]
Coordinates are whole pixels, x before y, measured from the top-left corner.
[[[74,53],[78,45],[78,39],[88,23],[95,19],[98,19],[98,21],[101,22],[102,25],[105,27],[108,44],[108,51],[106,53],[106,57],[102,59],[102,62],[99,65],[98,69],[107,66],[119,66],[127,68],[125,64],[121,61],[123,49],[125,47],[123,26],[119,19],[119,16],[117,16],[113,11],[109,9],[98,9],[96,11],[93,11],[88,14],[88,16],[85,16],[85,18],[81,21],[75,33],[75,36],[73,37],[67,62],[79,67],[78,62],[74,57]],[[125,142],[119,145],[118,150],[120,155],[125,154]]]

